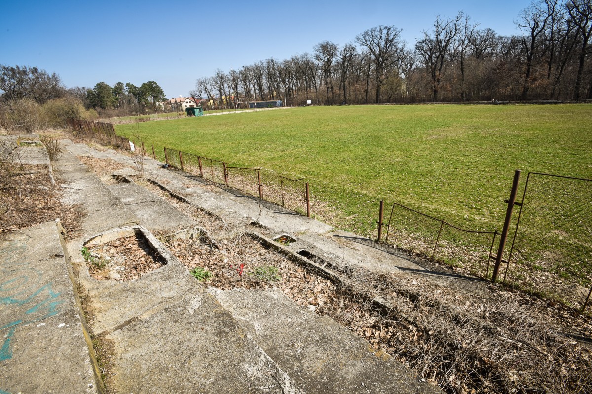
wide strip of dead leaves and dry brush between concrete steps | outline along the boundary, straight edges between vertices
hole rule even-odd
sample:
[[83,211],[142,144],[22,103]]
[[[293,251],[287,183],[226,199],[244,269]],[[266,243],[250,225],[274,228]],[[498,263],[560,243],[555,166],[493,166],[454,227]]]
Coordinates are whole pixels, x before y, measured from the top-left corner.
[[[426,278],[376,275],[348,266],[333,266],[343,282],[332,282],[263,248],[244,229],[232,233],[218,243],[221,250],[203,239],[160,237],[188,269],[212,273],[205,284],[220,289],[276,286],[446,392],[584,393],[592,389],[590,349],[564,330],[569,321],[590,334],[590,321],[559,305],[510,291],[494,291],[492,299],[482,299]],[[278,280],[260,274],[269,267],[277,270]],[[376,297],[385,304],[377,305]]]

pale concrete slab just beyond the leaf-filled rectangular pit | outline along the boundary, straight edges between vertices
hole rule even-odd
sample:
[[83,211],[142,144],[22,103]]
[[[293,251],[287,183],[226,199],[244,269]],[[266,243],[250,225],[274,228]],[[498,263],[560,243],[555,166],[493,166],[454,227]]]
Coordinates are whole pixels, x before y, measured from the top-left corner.
[[130,209],[140,220],[140,224],[149,230],[195,225],[189,216],[135,183],[109,185],[108,189]]

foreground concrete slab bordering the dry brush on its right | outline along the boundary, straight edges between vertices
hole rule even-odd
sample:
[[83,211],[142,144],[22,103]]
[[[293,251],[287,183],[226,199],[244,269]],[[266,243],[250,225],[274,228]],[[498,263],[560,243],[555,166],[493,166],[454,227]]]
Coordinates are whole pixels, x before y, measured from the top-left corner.
[[440,393],[334,320],[295,305],[279,289],[212,291],[307,393]]

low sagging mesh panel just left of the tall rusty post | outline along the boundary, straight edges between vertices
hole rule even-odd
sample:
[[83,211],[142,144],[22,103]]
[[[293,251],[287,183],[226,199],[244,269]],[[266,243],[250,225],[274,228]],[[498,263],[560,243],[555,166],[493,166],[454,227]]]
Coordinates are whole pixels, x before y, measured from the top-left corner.
[[490,277],[493,270],[493,266],[490,269],[490,261],[493,259],[491,253],[496,243],[497,231],[461,229],[397,203],[393,203],[392,208],[387,210],[385,218],[388,220],[384,224],[379,219],[379,227],[387,227],[384,239],[381,229],[379,242],[480,278]]

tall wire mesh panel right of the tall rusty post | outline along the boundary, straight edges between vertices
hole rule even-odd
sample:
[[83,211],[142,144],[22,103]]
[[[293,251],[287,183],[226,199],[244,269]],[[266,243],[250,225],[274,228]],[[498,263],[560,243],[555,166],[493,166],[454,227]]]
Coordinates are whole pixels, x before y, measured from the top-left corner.
[[592,180],[528,174],[504,281],[590,307]]

